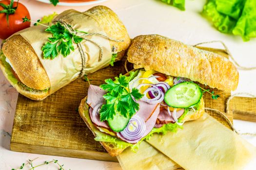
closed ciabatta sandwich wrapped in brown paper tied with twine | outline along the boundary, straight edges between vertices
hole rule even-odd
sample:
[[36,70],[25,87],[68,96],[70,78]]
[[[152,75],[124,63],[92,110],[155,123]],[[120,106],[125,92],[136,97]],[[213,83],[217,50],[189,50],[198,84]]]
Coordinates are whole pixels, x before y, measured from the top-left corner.
[[[85,12],[64,11],[55,17],[50,25],[60,21],[79,31],[89,30],[89,33],[94,33],[97,28],[104,36],[120,40],[112,41],[101,38],[96,41],[95,39],[100,38],[100,35],[88,36],[88,39],[92,38],[101,47],[102,39],[107,41],[104,42],[107,43],[105,45],[108,47],[105,48],[107,52],[103,49],[101,62],[98,62],[99,49],[95,48],[92,43],[88,44],[88,41],[81,42],[82,53],[85,53],[86,59],[86,63],[83,65],[88,73],[108,66],[110,62],[107,61],[110,59],[120,60],[130,45],[130,37],[123,23],[111,9],[105,6],[95,6]],[[45,99],[78,78],[79,72],[82,71],[83,59],[80,56],[79,51],[81,50],[79,50],[78,44],[74,44],[73,51],[65,58],[59,55],[54,59],[45,59],[42,56],[42,46],[48,42],[48,38],[52,37],[51,34],[45,32],[46,28],[47,26],[38,24],[22,30],[9,37],[0,50],[0,68],[4,76],[20,94],[32,100]],[[56,49],[58,50],[57,47]]]

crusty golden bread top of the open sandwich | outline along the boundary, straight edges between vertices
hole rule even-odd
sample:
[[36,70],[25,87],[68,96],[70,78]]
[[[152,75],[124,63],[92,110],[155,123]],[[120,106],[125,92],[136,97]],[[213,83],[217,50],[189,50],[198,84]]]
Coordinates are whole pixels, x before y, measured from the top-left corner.
[[225,91],[235,90],[238,85],[238,71],[228,59],[161,35],[135,37],[127,56],[134,68],[186,77]]

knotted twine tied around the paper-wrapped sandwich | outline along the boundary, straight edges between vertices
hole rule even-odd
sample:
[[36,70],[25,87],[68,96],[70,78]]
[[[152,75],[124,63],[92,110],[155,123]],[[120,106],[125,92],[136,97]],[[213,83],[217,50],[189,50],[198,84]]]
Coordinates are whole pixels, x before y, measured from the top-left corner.
[[[74,30],[69,24],[67,24],[66,22],[62,21],[62,20],[59,20],[58,22],[60,22],[64,28],[66,30],[68,30],[68,32],[70,34],[76,34],[78,35],[79,37],[81,37],[82,39],[84,39],[85,41],[89,41],[91,43],[93,43],[94,45],[96,45],[99,49],[99,57],[98,57],[98,62],[100,62],[102,60],[102,56],[103,56],[103,48],[94,40],[88,38],[88,36],[92,36],[92,35],[98,35],[98,36],[101,36],[101,37],[104,37],[108,40],[111,40],[111,41],[115,41],[115,42],[123,42],[123,40],[117,40],[117,39],[114,39],[114,38],[111,38],[109,37],[108,35],[105,35],[105,34],[101,34],[101,33],[85,33],[85,32],[79,32],[79,31],[76,31]],[[81,59],[82,59],[82,70],[81,70],[81,73],[80,73],[80,77],[84,76],[85,75],[85,68],[86,68],[86,62],[88,60],[87,58],[87,55],[86,55],[86,52],[81,44],[80,43],[77,43],[78,44],[78,49],[79,49],[79,53],[81,55]]]

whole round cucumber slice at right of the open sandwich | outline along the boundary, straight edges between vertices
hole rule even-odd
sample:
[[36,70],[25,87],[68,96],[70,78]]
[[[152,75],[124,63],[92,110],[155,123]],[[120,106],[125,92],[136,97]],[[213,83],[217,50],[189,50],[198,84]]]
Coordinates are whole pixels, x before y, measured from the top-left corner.
[[197,84],[183,82],[171,87],[164,95],[164,101],[171,107],[188,108],[202,98],[202,91]]

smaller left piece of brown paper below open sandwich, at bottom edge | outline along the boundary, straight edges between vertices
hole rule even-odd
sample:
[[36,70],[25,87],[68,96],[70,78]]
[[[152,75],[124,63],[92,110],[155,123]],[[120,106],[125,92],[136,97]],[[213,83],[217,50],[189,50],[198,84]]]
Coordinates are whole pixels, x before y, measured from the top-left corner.
[[117,158],[123,170],[176,170],[180,167],[145,141],[141,142],[137,153],[127,148]]

